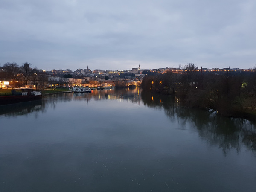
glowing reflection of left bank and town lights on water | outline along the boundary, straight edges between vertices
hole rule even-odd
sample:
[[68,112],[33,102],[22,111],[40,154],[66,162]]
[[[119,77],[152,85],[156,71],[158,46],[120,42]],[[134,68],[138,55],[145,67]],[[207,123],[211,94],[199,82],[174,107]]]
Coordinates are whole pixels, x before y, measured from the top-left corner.
[[119,99],[121,101],[140,102],[140,89],[105,89],[93,90],[92,93],[60,93],[47,95],[44,96],[42,100],[2,105],[0,106],[0,118],[26,115],[28,113],[35,113],[35,118],[37,118],[39,115],[38,112],[46,113],[48,108],[55,109],[58,103],[70,102],[72,100],[84,100],[88,103],[92,98],[95,100]]

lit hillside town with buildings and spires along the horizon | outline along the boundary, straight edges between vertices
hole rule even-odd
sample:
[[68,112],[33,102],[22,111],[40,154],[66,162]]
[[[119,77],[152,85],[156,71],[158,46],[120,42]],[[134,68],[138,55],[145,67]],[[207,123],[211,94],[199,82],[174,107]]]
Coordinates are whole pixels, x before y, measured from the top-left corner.
[[[140,86],[142,79],[147,74],[186,72],[186,66],[180,68],[165,67],[158,69],[141,69],[140,64],[131,70],[91,70],[88,66],[85,69],[52,69],[46,71],[37,68],[31,68],[29,63],[18,66],[15,62],[0,67],[0,88],[13,87],[30,87],[44,89],[49,87],[108,87],[108,86]],[[223,73],[225,71],[241,73],[254,72],[255,69],[239,69],[239,68],[199,68],[195,67],[195,71],[201,73]]]

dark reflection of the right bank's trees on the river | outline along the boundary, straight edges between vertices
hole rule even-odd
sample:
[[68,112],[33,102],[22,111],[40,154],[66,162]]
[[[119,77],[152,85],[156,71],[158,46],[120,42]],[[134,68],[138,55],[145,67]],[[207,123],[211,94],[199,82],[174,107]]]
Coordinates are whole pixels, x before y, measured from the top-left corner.
[[[157,93],[142,92],[144,105],[150,108],[163,108],[171,119],[179,123],[192,123],[199,136],[211,145],[218,145],[224,154],[231,149],[240,151],[244,144],[256,151],[256,125],[242,118],[227,118],[210,111],[179,107],[177,99]],[[177,117],[176,117],[177,116]]]

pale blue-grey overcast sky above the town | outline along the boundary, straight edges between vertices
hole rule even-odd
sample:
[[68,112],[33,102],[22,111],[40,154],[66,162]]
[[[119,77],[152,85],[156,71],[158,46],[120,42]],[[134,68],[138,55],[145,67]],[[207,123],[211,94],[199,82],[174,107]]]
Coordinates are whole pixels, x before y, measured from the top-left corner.
[[0,63],[253,68],[256,0],[0,0]]

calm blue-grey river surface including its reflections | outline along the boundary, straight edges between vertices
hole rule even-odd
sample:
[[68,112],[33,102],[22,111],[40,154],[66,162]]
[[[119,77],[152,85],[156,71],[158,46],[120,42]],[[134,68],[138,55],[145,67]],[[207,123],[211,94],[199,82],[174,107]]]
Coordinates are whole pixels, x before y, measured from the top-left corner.
[[2,106],[0,191],[256,191],[256,126],[139,89]]

